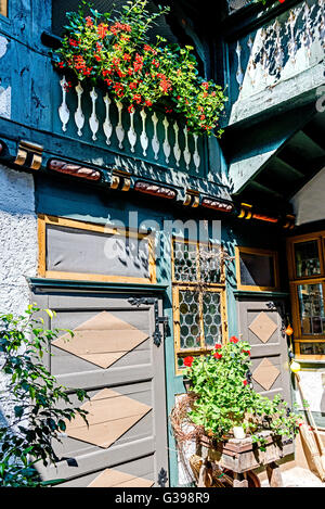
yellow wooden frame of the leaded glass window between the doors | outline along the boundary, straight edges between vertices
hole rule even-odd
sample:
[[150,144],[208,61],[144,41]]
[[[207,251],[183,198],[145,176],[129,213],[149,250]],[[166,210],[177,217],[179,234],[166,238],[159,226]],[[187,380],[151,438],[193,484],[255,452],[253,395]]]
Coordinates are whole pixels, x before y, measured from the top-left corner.
[[[203,313],[203,295],[209,292],[216,292],[220,294],[220,310],[221,310],[221,331],[222,331],[222,344],[226,343],[226,330],[227,330],[227,311],[226,311],[226,292],[225,292],[225,268],[224,263],[221,264],[220,270],[220,282],[219,283],[204,283],[204,290],[199,289],[199,279],[196,281],[179,281],[174,278],[174,242],[182,242],[186,244],[195,244],[198,250],[199,246],[209,246],[209,242],[192,241],[180,237],[172,236],[171,239],[171,275],[172,275],[172,316],[173,316],[173,339],[174,339],[174,365],[176,374],[182,376],[184,370],[178,365],[180,357],[184,358],[187,356],[203,356],[207,355],[213,349],[213,346],[207,347],[204,345],[205,332],[204,332],[204,313]],[[223,250],[222,245],[220,246]],[[197,257],[197,275],[200,276],[199,271],[199,257]],[[181,323],[180,323],[180,304],[179,304],[179,292],[181,290],[190,290],[195,292],[197,290],[199,294],[199,325],[202,343],[200,347],[181,349]]]

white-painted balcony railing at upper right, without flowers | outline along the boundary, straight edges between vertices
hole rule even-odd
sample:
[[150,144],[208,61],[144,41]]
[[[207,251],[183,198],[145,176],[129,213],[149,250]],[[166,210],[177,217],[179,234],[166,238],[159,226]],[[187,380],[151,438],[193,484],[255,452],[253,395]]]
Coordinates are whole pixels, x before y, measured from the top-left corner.
[[[238,39],[233,35],[229,42],[232,103],[238,102],[239,109],[242,101],[316,68],[324,61],[324,52],[325,0],[299,2]],[[322,74],[318,65],[317,75],[315,71],[302,91],[315,86]]]

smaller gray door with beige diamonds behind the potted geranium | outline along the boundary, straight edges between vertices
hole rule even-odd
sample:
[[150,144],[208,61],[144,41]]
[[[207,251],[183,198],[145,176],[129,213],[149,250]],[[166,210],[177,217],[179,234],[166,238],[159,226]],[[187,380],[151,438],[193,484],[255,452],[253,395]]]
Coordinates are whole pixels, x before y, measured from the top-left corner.
[[270,297],[238,301],[239,334],[251,345],[253,389],[273,398],[281,394],[290,405],[287,343],[282,323],[283,302]]

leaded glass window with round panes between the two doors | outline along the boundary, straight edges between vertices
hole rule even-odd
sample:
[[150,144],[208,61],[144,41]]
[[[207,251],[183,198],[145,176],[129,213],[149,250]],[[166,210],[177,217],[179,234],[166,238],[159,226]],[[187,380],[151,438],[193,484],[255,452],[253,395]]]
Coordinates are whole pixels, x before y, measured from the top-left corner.
[[173,241],[177,371],[188,355],[203,355],[224,336],[224,279],[220,245]]

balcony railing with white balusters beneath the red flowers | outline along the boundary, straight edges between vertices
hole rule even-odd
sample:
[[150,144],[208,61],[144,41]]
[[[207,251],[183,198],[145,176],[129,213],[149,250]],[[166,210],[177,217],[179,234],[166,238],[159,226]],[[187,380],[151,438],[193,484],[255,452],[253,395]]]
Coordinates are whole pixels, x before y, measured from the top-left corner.
[[60,80],[56,129],[70,138],[91,142],[123,155],[194,176],[205,175],[206,139],[160,111],[130,113],[121,102],[80,82]]

